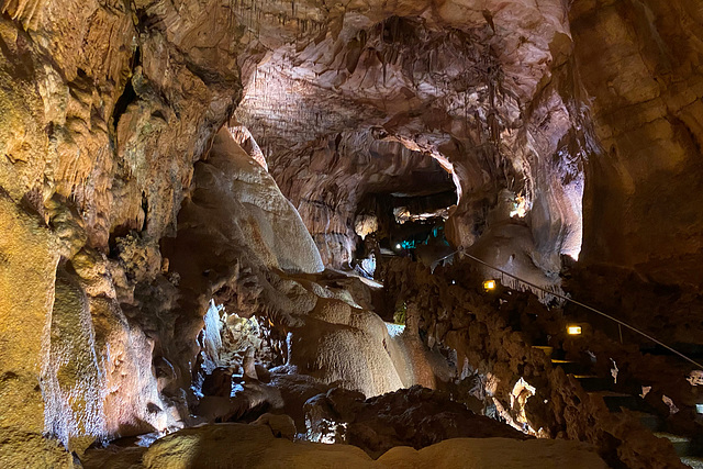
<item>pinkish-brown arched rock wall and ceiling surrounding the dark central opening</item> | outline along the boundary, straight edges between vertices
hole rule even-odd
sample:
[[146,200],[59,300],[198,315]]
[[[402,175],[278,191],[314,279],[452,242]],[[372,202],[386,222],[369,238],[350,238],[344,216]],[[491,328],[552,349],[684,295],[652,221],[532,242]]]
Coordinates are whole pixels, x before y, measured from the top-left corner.
[[[408,11],[349,21],[337,34],[281,42],[244,63],[235,115],[326,266],[359,260],[365,194],[393,192],[392,175],[412,177],[428,157],[456,188],[443,226],[451,246],[548,287],[559,282],[561,256],[578,257],[587,118],[557,81],[539,85],[542,65],[525,74],[526,62],[551,52],[514,63],[504,54],[512,36],[476,20],[459,26]],[[555,74],[576,79],[568,67]],[[423,190],[444,185],[428,178]]]

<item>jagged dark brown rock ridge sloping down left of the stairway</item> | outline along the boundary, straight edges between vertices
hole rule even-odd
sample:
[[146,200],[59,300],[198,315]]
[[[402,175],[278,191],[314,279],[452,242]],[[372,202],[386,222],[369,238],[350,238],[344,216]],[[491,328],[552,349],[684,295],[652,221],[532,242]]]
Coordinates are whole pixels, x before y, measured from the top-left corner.
[[[514,308],[523,300],[515,294],[487,297],[482,279],[466,265],[431,275],[403,260],[390,263],[383,273],[389,293],[408,302],[408,315],[415,316],[426,340],[455,349],[462,370],[459,378],[478,375],[495,412],[514,426],[591,443],[611,466],[681,467],[668,442],[656,438],[632,415],[611,414],[601,397],[554,368],[543,350],[532,347],[529,322],[521,327],[522,321],[514,317]],[[535,297],[520,309],[518,315],[537,315],[539,323],[532,325],[537,338],[547,334],[556,338],[566,330],[563,316],[547,311]],[[515,321],[522,332],[513,327]],[[594,342],[603,339],[598,336]],[[602,351],[598,345],[593,349]],[[517,398],[524,383],[534,391],[521,404]]]

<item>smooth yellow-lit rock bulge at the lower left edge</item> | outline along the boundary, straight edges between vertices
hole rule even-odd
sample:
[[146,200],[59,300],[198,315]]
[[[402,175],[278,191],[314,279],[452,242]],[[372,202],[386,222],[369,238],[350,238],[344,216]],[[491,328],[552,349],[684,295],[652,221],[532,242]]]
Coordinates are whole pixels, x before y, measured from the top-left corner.
[[[0,193],[0,465],[68,467],[44,439],[42,367],[48,360],[57,243],[41,220]],[[16,467],[16,466],[15,466]]]

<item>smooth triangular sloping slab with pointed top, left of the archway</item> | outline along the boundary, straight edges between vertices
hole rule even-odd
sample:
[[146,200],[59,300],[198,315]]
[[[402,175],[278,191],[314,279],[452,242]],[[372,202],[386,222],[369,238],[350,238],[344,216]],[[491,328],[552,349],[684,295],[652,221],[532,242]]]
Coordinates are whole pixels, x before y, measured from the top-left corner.
[[[192,187],[178,223],[178,245],[167,252],[174,253],[170,267],[185,283],[194,282],[191,276],[196,273],[202,277],[208,268],[215,269],[217,258],[222,266],[241,258],[252,267],[265,269],[304,273],[323,269],[295,209],[226,127],[213,139],[207,159],[194,165]],[[208,258],[187,271],[181,264],[191,263],[198,245],[208,247],[199,249]],[[217,247],[231,253],[219,252]],[[216,271],[208,276],[214,278]]]

